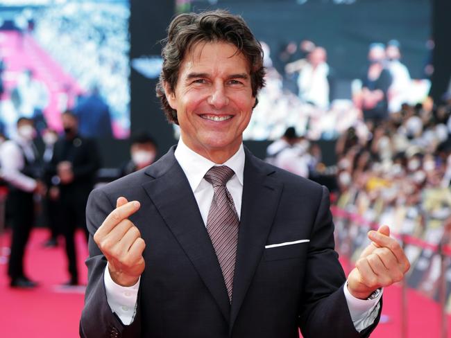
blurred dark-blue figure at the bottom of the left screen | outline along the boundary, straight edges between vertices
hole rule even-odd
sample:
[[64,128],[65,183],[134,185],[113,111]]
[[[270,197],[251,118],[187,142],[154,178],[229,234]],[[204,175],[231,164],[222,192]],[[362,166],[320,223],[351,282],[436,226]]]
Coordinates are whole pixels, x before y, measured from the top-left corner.
[[85,137],[112,137],[110,107],[94,86],[90,93],[81,96],[74,108],[78,118],[78,131]]

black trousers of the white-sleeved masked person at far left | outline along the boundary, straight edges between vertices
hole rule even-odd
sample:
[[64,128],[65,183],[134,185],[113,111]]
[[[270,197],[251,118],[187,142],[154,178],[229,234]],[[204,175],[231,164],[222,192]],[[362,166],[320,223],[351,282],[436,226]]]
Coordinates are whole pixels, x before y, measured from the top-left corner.
[[8,275],[11,279],[23,277],[24,254],[35,220],[33,193],[12,189],[8,194],[10,224],[12,229],[11,253]]

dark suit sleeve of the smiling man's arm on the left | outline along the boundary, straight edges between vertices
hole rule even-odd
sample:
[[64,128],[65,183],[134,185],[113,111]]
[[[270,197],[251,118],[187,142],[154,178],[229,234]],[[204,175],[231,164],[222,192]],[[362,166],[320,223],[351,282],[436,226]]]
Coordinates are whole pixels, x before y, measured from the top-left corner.
[[86,260],[88,283],[85,294],[85,307],[80,319],[80,337],[139,337],[141,316],[139,314],[139,294],[137,313],[133,323],[125,326],[111,311],[106,298],[103,273],[107,264],[105,256],[94,242],[93,236],[114,205],[101,189],[93,190],[87,202],[86,222],[90,232],[88,243],[90,257]]

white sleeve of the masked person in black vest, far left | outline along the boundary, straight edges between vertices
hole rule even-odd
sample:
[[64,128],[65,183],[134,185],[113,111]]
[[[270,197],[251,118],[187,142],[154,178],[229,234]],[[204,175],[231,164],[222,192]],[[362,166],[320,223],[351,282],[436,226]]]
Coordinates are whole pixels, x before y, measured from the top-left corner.
[[28,177],[20,170],[24,168],[24,155],[17,144],[5,141],[0,148],[1,177],[12,186],[32,193],[36,188],[36,180]]

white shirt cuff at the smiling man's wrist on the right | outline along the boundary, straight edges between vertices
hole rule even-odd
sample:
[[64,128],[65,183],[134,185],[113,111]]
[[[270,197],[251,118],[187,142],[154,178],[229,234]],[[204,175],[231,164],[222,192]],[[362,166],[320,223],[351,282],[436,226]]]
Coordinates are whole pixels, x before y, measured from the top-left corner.
[[351,315],[352,323],[354,323],[355,330],[361,332],[374,323],[380,309],[380,292],[375,299],[364,300],[355,298],[348,290],[348,282],[343,286],[343,291],[348,303],[349,313]]

